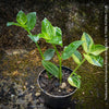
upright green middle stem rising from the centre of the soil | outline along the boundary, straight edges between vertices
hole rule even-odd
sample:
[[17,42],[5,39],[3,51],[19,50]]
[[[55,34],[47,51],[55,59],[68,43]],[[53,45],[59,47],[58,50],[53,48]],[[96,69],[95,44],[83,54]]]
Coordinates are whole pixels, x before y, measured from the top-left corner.
[[53,48],[55,48],[55,50],[56,50],[56,53],[57,53],[57,56],[58,56],[58,58],[59,58],[59,78],[60,78],[60,84],[61,84],[61,82],[62,82],[62,66],[61,66],[62,61],[61,61],[61,56],[60,56],[60,53],[59,53],[57,47],[56,47],[55,45],[52,45],[52,46],[53,46]]

